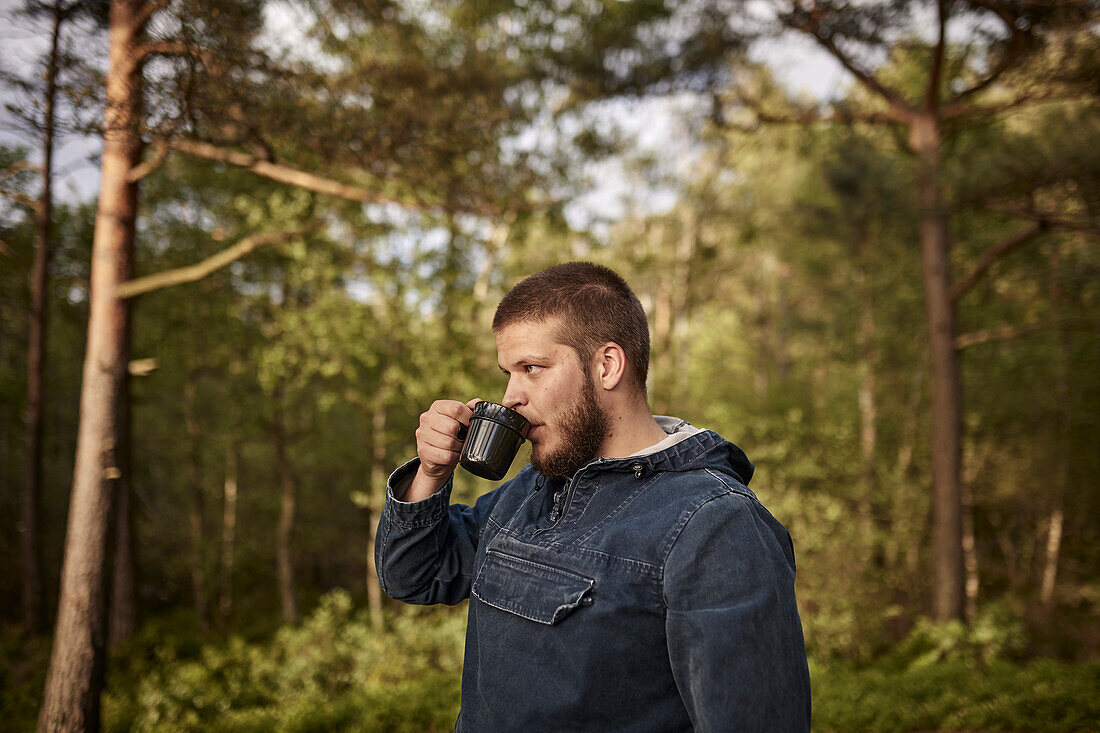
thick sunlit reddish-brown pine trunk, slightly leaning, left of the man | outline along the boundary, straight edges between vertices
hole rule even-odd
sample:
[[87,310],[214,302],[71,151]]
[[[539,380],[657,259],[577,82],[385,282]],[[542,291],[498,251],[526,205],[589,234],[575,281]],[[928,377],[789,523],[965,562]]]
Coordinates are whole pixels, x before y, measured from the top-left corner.
[[133,262],[136,188],[128,182],[140,146],[136,132],[140,72],[133,0],[114,0],[102,171],[92,237],[88,341],[80,389],[73,493],[62,566],[57,625],[38,730],[98,731],[103,686],[107,580],[113,493],[121,471],[117,455],[124,400],[127,304],[117,288]]

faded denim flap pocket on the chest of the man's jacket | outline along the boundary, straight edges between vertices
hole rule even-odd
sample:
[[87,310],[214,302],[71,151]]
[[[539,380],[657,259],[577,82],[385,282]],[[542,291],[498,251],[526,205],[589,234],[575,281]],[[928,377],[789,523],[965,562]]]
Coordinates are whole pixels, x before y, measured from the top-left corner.
[[590,605],[595,584],[595,580],[578,572],[491,549],[472,592],[495,609],[553,625]]

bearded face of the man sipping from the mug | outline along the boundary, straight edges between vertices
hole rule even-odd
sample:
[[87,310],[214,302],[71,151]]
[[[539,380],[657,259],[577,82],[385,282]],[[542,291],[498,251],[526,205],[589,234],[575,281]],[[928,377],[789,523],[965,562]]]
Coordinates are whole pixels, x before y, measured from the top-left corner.
[[558,322],[513,324],[496,335],[501,370],[508,376],[504,404],[531,424],[531,466],[557,478],[598,455],[608,418],[586,365],[557,340]]

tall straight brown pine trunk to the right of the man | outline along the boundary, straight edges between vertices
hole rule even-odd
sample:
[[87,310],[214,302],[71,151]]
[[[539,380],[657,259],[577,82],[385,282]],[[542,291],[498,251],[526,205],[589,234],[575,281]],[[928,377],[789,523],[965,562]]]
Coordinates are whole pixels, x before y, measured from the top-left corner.
[[939,182],[939,121],[917,117],[910,129],[916,155],[924,303],[932,361],[932,617],[963,617],[961,389],[955,350],[948,216]]

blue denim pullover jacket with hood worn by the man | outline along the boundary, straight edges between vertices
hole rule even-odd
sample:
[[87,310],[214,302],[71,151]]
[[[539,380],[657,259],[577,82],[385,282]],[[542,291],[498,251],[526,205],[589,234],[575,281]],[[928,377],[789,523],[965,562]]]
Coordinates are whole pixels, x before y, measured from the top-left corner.
[[530,466],[450,505],[389,478],[378,580],[470,599],[459,731],[806,731],[810,675],[787,529],[752,464],[704,430],[569,481]]

